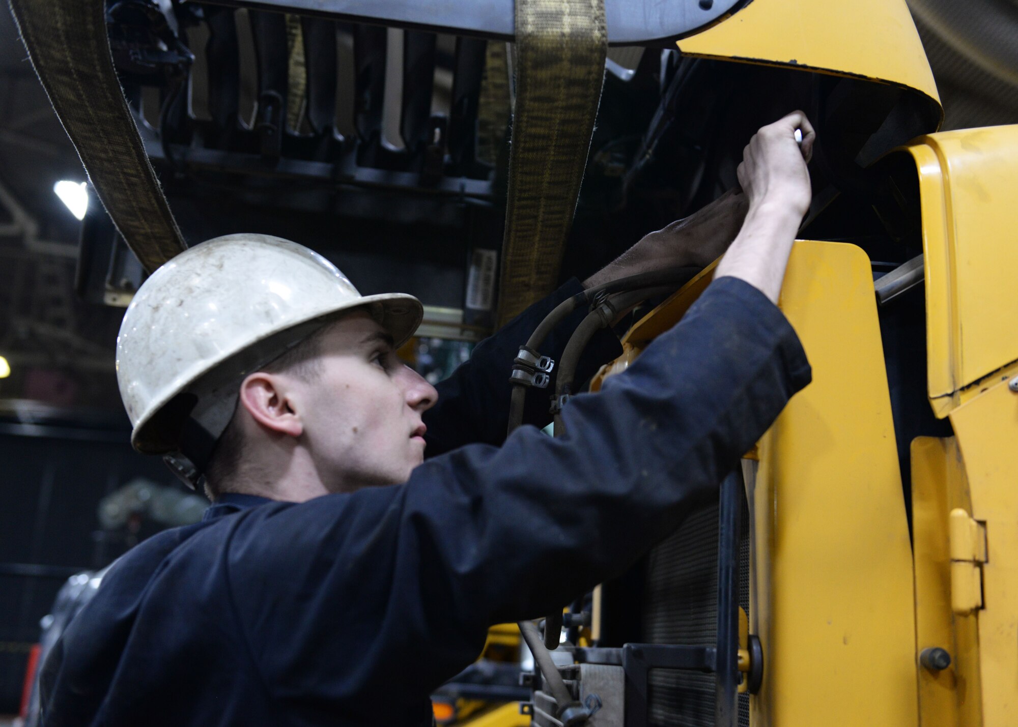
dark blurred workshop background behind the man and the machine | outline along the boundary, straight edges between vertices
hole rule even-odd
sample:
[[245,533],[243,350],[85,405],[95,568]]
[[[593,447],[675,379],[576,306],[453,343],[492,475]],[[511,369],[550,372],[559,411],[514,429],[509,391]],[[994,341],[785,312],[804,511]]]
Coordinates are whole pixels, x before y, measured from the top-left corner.
[[[1018,121],[1018,80],[983,70],[914,9],[945,128]],[[987,5],[989,3],[987,2]],[[977,12],[979,2],[968,3]],[[982,65],[985,65],[983,63]],[[4,3],[0,8],[0,715],[17,712],[40,620],[69,575],[108,564],[129,536],[104,530],[100,500],[136,478],[179,488],[135,454],[116,388],[122,309],[73,293],[80,223],[53,192],[80,181]],[[142,529],[134,537],[144,538]]]

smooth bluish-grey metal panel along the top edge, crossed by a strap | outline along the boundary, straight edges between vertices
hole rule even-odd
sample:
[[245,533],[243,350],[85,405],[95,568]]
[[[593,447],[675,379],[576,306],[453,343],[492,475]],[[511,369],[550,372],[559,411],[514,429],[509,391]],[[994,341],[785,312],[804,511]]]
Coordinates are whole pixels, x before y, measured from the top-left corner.
[[[407,2],[406,0],[219,0],[226,5],[323,15],[354,22],[375,22],[394,27],[513,40],[516,16],[513,0],[458,0],[458,2]],[[747,0],[605,0],[608,42],[639,45],[689,35]]]

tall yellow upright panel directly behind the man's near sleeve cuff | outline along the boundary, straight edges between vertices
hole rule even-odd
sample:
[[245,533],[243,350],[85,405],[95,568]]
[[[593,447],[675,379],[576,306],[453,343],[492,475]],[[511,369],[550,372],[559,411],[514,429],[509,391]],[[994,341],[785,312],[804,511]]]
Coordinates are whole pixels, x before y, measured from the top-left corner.
[[[712,274],[630,330],[628,358]],[[745,463],[750,631],[766,663],[753,724],[916,725],[912,556],[869,260],[854,245],[798,241],[780,304],[813,382]]]

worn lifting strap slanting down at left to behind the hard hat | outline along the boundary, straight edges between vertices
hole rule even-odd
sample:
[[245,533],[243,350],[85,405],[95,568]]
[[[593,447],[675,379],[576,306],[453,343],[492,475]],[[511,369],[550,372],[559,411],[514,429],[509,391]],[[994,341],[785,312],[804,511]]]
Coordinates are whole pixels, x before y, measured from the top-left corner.
[[93,187],[151,273],[186,244],[120,89],[103,0],[10,0],[10,7]]

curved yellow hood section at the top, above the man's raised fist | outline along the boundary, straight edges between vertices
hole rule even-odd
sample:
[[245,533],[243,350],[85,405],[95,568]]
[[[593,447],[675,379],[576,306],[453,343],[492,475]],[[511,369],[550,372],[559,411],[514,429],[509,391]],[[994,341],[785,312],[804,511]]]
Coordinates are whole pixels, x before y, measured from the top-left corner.
[[905,0],[753,0],[678,45],[684,55],[882,80],[940,107]]

